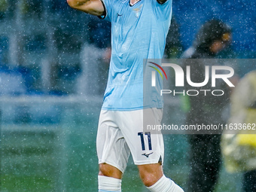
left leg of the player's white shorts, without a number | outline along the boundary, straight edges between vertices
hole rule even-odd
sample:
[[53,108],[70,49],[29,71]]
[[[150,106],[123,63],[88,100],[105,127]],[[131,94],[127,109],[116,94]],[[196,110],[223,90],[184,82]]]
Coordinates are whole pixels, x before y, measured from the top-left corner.
[[124,172],[130,149],[115,121],[114,111],[101,111],[96,139],[97,154],[99,164],[107,163]]

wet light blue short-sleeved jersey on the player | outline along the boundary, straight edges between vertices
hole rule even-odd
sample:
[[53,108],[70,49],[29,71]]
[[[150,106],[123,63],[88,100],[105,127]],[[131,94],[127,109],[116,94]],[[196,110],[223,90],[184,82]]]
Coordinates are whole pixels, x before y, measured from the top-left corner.
[[112,51],[102,109],[163,108],[163,99],[157,90],[148,89],[148,102],[143,102],[143,75],[149,69],[145,70],[148,62],[144,59],[163,57],[172,17],[172,0],[163,5],[157,0],[141,0],[133,6],[130,0],[102,2],[106,10],[105,20],[111,21]]

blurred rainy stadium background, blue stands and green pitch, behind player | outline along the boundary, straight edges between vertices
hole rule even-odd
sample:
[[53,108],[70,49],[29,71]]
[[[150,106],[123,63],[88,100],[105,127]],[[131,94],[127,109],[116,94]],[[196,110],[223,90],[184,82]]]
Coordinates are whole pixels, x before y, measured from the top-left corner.
[[[209,19],[233,28],[221,58],[255,59],[256,2],[173,0],[166,58],[178,58]],[[65,0],[0,0],[1,191],[96,191],[96,128],[107,79],[110,23]],[[256,66],[238,66],[239,76]],[[167,108],[181,124],[178,98]],[[165,135],[166,175],[185,185],[185,135]],[[130,160],[123,191],[146,191]],[[216,191],[240,191],[223,168]]]

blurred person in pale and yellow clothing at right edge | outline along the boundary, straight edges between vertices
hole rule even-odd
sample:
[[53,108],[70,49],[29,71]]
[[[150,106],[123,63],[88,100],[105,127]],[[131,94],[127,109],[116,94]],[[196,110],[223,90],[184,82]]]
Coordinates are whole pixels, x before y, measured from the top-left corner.
[[256,70],[239,81],[231,96],[221,150],[228,172],[244,172],[243,191],[256,191]]

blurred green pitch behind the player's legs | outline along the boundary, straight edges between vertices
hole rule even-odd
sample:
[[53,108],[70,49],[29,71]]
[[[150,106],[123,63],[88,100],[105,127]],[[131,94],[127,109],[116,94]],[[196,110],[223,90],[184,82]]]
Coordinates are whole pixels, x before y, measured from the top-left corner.
[[[1,191],[97,191],[99,108],[89,111],[68,109],[61,123],[48,125],[2,123]],[[185,187],[189,170],[186,136],[165,135],[164,139],[165,173]],[[216,192],[238,192],[240,180],[241,175],[222,169]],[[122,186],[123,192],[147,191],[132,158]]]

